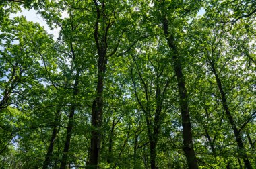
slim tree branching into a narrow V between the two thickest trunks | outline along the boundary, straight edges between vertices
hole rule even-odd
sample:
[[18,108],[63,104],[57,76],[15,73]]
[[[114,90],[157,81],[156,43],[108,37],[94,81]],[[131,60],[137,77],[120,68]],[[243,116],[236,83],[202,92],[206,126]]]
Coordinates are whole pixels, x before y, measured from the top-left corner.
[[[144,50],[141,45],[141,51],[136,54],[137,56],[132,54],[131,80],[137,103],[146,117],[150,144],[150,166],[156,168],[158,135],[161,132],[161,123],[164,121],[165,113],[168,111],[167,107],[170,107],[166,93],[171,75],[168,75],[169,71],[166,67],[168,58],[162,56],[160,42],[154,39],[150,39],[150,41],[151,43],[146,43],[147,47]],[[152,48],[156,46],[156,51],[151,50],[149,46]],[[145,65],[146,68],[144,68]],[[134,77],[135,74],[137,78]],[[140,94],[141,91],[143,91],[143,95]]]

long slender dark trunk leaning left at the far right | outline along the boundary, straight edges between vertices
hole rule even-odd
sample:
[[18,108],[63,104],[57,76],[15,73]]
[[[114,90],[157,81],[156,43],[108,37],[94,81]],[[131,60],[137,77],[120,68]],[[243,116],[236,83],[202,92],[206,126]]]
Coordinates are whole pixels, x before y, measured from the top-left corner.
[[[214,63],[211,60],[208,60],[208,61],[209,61],[210,66],[212,68],[212,72],[214,73],[214,76],[216,78],[216,82],[217,82],[218,89],[220,91],[220,95],[221,95],[221,99],[222,99],[222,105],[223,105],[224,111],[226,112],[226,116],[228,117],[228,121],[230,122],[230,125],[232,126],[232,129],[234,131],[234,136],[236,138],[236,143],[238,144],[238,148],[241,149],[241,150],[244,150],[245,146],[243,145],[241,135],[240,135],[240,133],[239,133],[237,127],[236,127],[236,124],[234,123],[234,119],[233,119],[233,117],[230,113],[230,109],[229,109],[228,103],[226,101],[226,95],[225,95],[223,87],[222,87],[222,82],[220,81],[220,78],[218,77],[218,74],[216,72]],[[245,162],[246,168],[248,168],[248,169],[252,168],[251,163],[248,159],[248,156],[245,153],[243,153],[243,161]]]

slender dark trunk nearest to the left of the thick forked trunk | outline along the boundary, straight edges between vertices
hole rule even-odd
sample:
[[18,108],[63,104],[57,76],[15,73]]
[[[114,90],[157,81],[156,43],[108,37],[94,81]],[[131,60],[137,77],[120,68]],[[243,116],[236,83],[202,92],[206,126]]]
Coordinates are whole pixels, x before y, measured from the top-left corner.
[[[73,99],[75,100],[75,96],[78,94],[79,89],[78,89],[78,84],[79,84],[79,70],[77,70],[77,73],[75,75],[75,84],[73,87]],[[65,146],[63,150],[63,155],[61,158],[61,169],[65,169],[65,166],[67,165],[67,153],[69,152],[69,145],[70,145],[70,140],[71,140],[71,135],[72,135],[72,130],[73,130],[73,117],[75,115],[75,104],[71,104],[71,109],[69,111],[69,122],[67,125],[67,135],[66,135],[66,140],[65,140]]]

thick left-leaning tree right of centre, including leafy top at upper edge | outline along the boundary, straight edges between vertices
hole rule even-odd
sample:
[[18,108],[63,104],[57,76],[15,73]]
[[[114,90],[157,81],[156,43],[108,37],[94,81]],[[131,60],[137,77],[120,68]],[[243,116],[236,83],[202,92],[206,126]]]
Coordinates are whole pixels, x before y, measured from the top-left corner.
[[[189,3],[194,3],[189,5]],[[164,36],[168,42],[170,48],[173,68],[175,76],[177,78],[177,87],[179,89],[179,105],[181,109],[181,119],[183,125],[183,150],[187,158],[187,164],[189,168],[198,168],[197,158],[195,156],[195,150],[193,148],[193,136],[191,129],[191,119],[189,115],[189,101],[187,97],[187,89],[185,87],[185,75],[183,74],[184,59],[183,54],[179,51],[179,45],[182,40],[179,30],[182,30],[183,24],[187,22],[187,15],[195,15],[199,10],[197,2],[170,2],[159,1],[156,2],[155,7],[161,11],[159,19],[162,21],[162,29]],[[178,12],[180,17],[175,19],[174,13]],[[174,25],[174,26],[170,26]]]

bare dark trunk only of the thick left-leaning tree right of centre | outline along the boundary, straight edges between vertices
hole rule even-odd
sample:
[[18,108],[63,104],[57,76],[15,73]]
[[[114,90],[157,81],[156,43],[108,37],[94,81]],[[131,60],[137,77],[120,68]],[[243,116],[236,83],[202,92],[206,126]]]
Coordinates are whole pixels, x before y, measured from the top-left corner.
[[179,89],[179,105],[181,109],[181,119],[183,126],[183,151],[187,158],[189,168],[198,168],[197,158],[193,147],[193,135],[191,121],[189,117],[189,105],[187,101],[187,89],[185,88],[185,79],[182,72],[181,58],[179,57],[177,46],[174,44],[174,37],[168,32],[168,19],[164,18],[163,21],[164,34],[168,41],[168,46],[172,49],[174,54],[172,60],[174,63],[174,71],[177,78],[177,85]]

